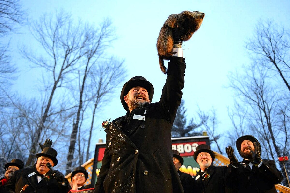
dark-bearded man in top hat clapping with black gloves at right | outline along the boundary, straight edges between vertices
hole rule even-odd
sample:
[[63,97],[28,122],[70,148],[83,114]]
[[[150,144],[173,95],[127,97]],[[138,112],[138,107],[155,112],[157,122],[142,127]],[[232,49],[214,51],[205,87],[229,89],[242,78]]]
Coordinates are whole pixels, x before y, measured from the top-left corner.
[[273,160],[261,158],[259,141],[252,135],[244,135],[237,139],[236,147],[244,159],[238,162],[233,148],[226,148],[231,163],[226,172],[226,184],[239,192],[276,193],[275,184],[283,177]]

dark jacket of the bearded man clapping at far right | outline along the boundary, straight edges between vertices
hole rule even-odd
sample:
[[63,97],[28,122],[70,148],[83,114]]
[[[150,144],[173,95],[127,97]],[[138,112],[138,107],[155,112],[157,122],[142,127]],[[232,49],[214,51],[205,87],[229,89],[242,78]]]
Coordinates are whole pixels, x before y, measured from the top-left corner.
[[226,184],[237,188],[239,192],[277,193],[275,184],[280,183],[282,179],[274,161],[269,159],[263,159],[262,165],[254,170],[242,162],[238,168],[230,164],[226,172]]

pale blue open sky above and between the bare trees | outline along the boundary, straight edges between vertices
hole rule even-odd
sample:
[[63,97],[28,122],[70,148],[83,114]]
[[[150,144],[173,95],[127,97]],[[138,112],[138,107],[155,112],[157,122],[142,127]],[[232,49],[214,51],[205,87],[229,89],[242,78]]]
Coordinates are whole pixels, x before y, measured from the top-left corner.
[[[183,10],[201,11],[205,18],[200,29],[192,38],[183,43],[186,57],[185,86],[183,99],[187,116],[195,116],[197,106],[202,111],[214,107],[220,124],[220,132],[232,128],[227,107],[233,105],[234,93],[227,89],[227,75],[241,70],[250,63],[244,48],[245,41],[253,36],[254,27],[260,19],[273,19],[275,23],[289,28],[290,1],[22,1],[29,17],[37,19],[41,14],[63,10],[72,14],[75,20],[83,20],[98,25],[106,17],[112,19],[118,40],[108,50],[125,59],[128,77],[120,83],[119,91],[104,111],[97,113],[96,127],[101,128],[103,120],[115,119],[125,114],[119,100],[123,84],[133,76],[144,76],[154,88],[153,102],[159,101],[166,79],[159,67],[156,41],[160,28],[168,15]],[[35,96],[39,88],[40,72],[29,69],[29,63],[21,58],[19,45],[37,49],[28,28],[21,27],[17,34],[11,34],[10,50],[19,67],[19,78],[13,90],[27,97]],[[166,63],[167,66],[167,63]],[[76,85],[77,86],[77,85]],[[115,107],[114,111],[107,111]],[[94,138],[105,139],[104,130],[97,129]],[[92,141],[94,144],[96,141]],[[94,145],[93,145],[94,146]]]

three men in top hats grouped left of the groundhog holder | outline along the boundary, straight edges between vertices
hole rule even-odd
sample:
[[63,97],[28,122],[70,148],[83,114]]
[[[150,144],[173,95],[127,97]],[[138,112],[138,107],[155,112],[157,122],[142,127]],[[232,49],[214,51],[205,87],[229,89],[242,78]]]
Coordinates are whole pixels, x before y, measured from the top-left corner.
[[12,159],[5,164],[5,174],[1,180],[0,192],[5,193],[67,193],[72,190],[84,190],[88,179],[88,172],[79,166],[71,173],[71,182],[64,175],[55,170],[58,163],[57,151],[50,146],[52,141],[47,139],[42,151],[37,153],[33,167],[23,168],[23,161]]

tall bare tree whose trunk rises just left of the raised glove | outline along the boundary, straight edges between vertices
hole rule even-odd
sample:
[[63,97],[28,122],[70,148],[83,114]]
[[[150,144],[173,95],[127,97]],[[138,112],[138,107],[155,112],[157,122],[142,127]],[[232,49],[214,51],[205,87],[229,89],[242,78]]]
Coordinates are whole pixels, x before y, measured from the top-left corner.
[[[82,59],[87,54],[85,47],[90,43],[88,33],[84,29],[87,28],[81,22],[75,25],[71,16],[65,13],[56,14],[55,17],[44,14],[39,20],[34,20],[30,25],[32,35],[39,42],[44,52],[40,56],[36,56],[29,52],[26,47],[23,47],[21,53],[35,67],[44,69],[47,76],[52,77],[52,81],[47,83],[46,93],[48,95],[43,104],[44,111],[41,112],[41,118],[33,136],[34,140],[26,166],[32,164],[39,138],[49,115],[74,107],[72,105],[67,109],[58,108],[55,109],[56,112],[50,112],[57,89],[60,87],[65,89],[67,83],[72,79],[71,75],[83,65],[81,63]],[[63,89],[59,90],[59,93],[64,92]]]

